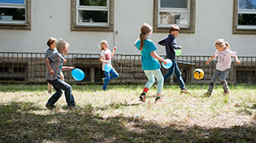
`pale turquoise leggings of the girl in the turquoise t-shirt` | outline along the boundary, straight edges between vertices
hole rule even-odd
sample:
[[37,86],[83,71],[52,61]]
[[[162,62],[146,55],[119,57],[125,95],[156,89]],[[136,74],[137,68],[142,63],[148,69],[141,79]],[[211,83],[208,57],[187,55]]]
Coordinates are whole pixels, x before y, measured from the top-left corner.
[[148,83],[146,83],[145,87],[150,89],[150,87],[154,84],[154,77],[157,79],[157,94],[162,93],[162,89],[164,86],[164,77],[160,69],[157,70],[148,70],[144,71],[146,76],[148,77]]

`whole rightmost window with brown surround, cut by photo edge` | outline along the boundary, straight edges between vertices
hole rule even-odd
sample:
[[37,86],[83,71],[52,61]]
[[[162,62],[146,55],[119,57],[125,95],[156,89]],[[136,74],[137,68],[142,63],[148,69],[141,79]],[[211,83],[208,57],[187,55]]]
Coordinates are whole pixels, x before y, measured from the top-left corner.
[[234,0],[233,33],[256,34],[256,0]]

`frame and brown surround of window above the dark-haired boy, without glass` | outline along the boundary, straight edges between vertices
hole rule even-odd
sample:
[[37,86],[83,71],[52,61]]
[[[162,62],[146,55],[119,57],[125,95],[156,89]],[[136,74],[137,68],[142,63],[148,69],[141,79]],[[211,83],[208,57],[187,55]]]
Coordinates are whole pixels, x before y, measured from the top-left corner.
[[[182,9],[175,9],[173,11],[176,12],[189,12],[189,26],[180,26],[180,33],[195,33],[195,0],[188,0],[188,11],[183,11]],[[160,12],[164,12],[165,10],[160,9],[160,0],[154,0],[154,16],[153,16],[153,30],[154,32],[167,32],[169,31],[170,26],[160,26]],[[169,11],[169,10],[167,10]]]

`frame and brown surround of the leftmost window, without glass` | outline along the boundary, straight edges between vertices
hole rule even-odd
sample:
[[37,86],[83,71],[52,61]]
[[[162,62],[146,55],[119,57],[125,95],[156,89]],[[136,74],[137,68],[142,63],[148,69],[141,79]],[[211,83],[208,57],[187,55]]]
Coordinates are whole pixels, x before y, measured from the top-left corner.
[[21,4],[3,4],[1,8],[21,8],[25,9],[25,20],[17,21],[1,21],[0,29],[20,29],[20,30],[31,30],[31,0],[25,0],[25,6]]

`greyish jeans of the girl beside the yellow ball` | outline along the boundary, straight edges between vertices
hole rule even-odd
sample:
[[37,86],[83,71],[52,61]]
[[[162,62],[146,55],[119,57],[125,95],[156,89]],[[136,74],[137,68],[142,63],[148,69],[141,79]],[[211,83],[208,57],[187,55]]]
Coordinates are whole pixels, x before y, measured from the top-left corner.
[[228,77],[229,73],[230,73],[230,69],[227,69],[225,71],[218,71],[217,69],[215,69],[207,92],[209,94],[212,94],[214,83],[217,82],[218,78],[220,80],[220,83],[223,86],[224,91],[228,91],[229,88],[228,88],[228,83],[226,81],[226,77]]

